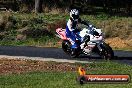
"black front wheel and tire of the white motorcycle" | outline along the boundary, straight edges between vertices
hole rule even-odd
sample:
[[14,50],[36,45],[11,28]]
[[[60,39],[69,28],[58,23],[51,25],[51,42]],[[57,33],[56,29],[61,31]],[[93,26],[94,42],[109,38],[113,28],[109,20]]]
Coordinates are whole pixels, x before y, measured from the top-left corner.
[[103,58],[105,60],[110,60],[110,59],[114,58],[114,52],[108,44],[103,43],[100,46],[102,49],[102,51],[100,51],[100,53],[99,53],[101,58]]

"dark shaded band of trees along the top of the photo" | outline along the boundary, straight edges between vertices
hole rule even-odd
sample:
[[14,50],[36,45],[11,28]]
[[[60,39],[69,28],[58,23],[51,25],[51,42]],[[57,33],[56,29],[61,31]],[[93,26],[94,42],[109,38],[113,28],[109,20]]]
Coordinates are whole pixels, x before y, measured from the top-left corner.
[[83,13],[131,14],[132,0],[0,0],[0,8],[21,12],[65,11],[77,7]]

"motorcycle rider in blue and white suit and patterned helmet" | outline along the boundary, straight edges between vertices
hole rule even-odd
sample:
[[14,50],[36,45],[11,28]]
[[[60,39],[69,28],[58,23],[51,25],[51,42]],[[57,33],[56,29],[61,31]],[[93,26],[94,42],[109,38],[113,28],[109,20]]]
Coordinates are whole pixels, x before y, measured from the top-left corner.
[[76,39],[78,39],[78,29],[77,29],[77,25],[78,23],[84,24],[84,25],[88,25],[87,22],[82,21],[81,18],[79,18],[79,10],[77,9],[72,9],[70,11],[70,18],[66,24],[66,36],[69,38],[69,41],[71,42],[72,46],[72,53],[71,55],[74,55],[77,48],[78,48],[78,44],[76,42]]

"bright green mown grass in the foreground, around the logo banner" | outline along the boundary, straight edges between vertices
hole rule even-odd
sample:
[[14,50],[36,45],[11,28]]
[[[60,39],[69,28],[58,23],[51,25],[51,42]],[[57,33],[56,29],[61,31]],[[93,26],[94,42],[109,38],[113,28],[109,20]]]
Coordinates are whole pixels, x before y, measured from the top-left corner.
[[[78,64],[86,67],[86,64]],[[91,63],[87,65],[87,74],[129,74],[132,66],[114,62]],[[127,84],[84,84],[76,82],[77,72],[31,72],[0,76],[0,88],[131,88]]]

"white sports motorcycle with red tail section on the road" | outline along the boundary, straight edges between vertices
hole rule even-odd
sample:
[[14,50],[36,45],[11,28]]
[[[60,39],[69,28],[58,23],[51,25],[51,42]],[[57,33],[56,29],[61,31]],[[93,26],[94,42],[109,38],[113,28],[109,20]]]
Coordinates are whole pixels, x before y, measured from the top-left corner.
[[96,53],[105,60],[114,58],[112,48],[104,41],[102,30],[97,29],[92,25],[89,25],[87,28],[83,28],[81,31],[77,32],[78,36],[80,36],[80,40],[76,39],[79,47],[77,48],[75,55],[71,54],[71,43],[66,37],[65,29],[57,28],[56,33],[56,36],[63,40],[63,51],[73,58],[78,57],[80,54],[89,55],[91,53]]

